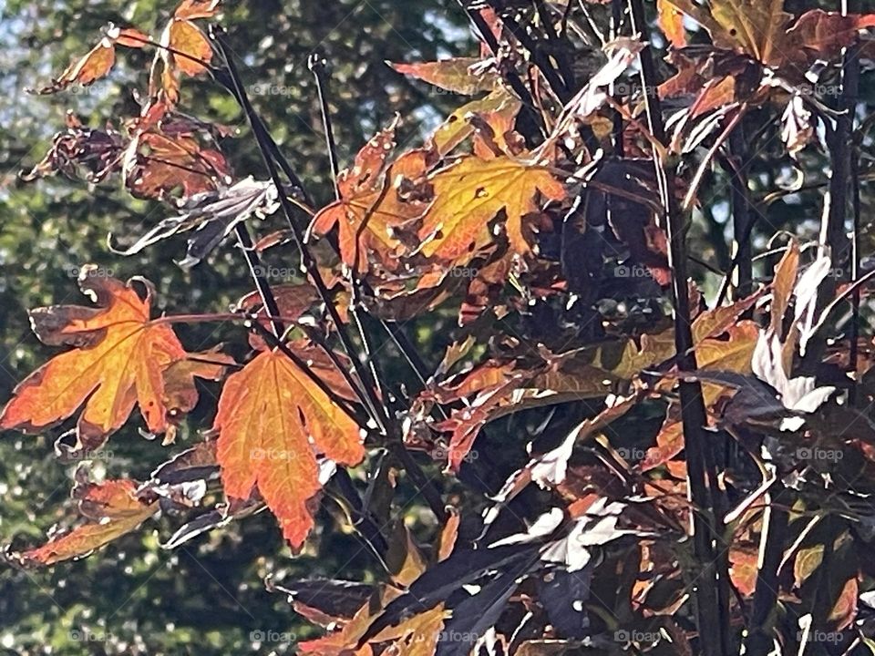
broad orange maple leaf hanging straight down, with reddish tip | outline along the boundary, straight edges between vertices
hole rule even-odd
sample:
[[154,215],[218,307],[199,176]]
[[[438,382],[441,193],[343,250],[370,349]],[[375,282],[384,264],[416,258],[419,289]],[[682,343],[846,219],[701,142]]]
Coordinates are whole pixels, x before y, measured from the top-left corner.
[[[321,351],[302,342],[290,348],[339,395],[352,398]],[[317,454],[348,466],[365,456],[355,421],[279,352],[262,351],[228,377],[214,428],[225,493],[248,498],[257,487],[293,548],[314,524],[307,502],[322,487]]]

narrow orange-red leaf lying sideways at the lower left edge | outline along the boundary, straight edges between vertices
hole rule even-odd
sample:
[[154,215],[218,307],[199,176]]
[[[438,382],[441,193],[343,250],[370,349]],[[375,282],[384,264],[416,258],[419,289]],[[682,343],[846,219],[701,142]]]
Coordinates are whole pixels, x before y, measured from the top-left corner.
[[136,497],[138,484],[129,479],[109,480],[75,489],[79,512],[88,522],[70,532],[52,538],[45,545],[29,549],[18,558],[26,565],[54,565],[63,560],[81,558],[139,527],[158,512],[157,499],[143,501]]

